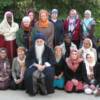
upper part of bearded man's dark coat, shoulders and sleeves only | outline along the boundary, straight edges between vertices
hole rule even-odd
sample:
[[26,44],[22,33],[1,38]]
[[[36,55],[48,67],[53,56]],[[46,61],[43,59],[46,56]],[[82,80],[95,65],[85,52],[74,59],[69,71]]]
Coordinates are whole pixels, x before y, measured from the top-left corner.
[[[31,66],[33,63],[38,63],[38,60],[36,58],[36,53],[35,53],[35,46],[33,46],[26,55],[26,67]],[[45,62],[49,62],[51,66],[54,66],[55,64],[55,57],[52,52],[52,50],[45,45],[45,49],[42,55],[42,64]]]

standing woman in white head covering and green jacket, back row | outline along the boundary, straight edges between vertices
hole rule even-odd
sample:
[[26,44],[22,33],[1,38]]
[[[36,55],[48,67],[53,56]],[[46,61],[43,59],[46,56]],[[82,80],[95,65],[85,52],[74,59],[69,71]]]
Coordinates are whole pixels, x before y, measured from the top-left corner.
[[20,29],[16,33],[16,43],[28,50],[32,46],[33,28],[28,16],[23,17]]

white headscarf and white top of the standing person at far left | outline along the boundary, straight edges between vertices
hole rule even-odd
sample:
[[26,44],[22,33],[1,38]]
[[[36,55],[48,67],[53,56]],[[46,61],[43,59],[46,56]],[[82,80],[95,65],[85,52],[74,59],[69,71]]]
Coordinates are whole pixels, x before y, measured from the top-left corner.
[[[12,16],[12,24],[9,25],[7,21],[7,15],[10,14]],[[16,31],[19,29],[17,23],[14,22],[13,13],[7,11],[4,14],[4,19],[0,24],[0,34],[4,35],[6,40],[14,40],[16,38]]]

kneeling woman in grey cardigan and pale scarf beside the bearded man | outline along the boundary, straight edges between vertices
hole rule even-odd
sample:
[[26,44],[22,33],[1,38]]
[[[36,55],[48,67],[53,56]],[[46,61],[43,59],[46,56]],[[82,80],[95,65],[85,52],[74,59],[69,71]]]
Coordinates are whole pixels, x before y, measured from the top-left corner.
[[24,72],[25,66],[25,48],[19,47],[17,49],[17,57],[13,59],[12,63],[12,82],[11,89],[24,89]]

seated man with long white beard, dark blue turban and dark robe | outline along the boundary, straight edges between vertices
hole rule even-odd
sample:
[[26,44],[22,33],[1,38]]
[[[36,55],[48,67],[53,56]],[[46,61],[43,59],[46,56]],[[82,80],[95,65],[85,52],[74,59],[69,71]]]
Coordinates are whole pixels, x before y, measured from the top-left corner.
[[[45,44],[45,35],[43,33],[36,33],[34,36],[33,47],[30,48],[26,56],[26,72],[25,72],[25,87],[29,95],[37,94],[37,84],[33,82],[33,73],[38,69],[45,75],[46,91],[42,86],[39,86],[39,91],[42,95],[54,92],[53,78],[55,57],[51,48]],[[40,83],[40,81],[38,82]]]

